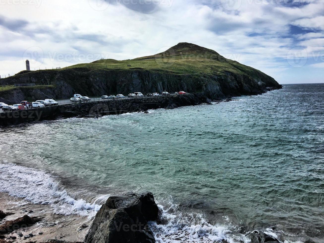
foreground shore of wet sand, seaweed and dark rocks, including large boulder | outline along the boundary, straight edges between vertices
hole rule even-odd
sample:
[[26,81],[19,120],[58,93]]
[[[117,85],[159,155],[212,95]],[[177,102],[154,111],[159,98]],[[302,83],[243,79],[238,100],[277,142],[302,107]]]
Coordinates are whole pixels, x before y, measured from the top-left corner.
[[[15,205],[15,211],[12,208],[8,213],[0,211],[0,215],[4,217],[0,221],[0,243],[155,243],[156,240],[148,222],[156,221],[162,224],[161,212],[151,192],[140,195],[129,192],[123,196],[109,197],[97,212],[92,223],[86,217],[73,218],[58,214],[42,217],[40,215],[44,213],[46,205],[27,203],[17,207],[19,203],[16,198],[4,193],[0,193],[0,198],[7,199],[6,203],[0,204],[1,207],[7,205],[7,209],[8,205]],[[32,210],[25,212],[28,207],[40,212],[38,214]],[[23,216],[20,216],[22,214]],[[250,237],[251,243],[282,242],[281,239],[256,230],[250,233]],[[179,242],[183,241],[179,239]]]

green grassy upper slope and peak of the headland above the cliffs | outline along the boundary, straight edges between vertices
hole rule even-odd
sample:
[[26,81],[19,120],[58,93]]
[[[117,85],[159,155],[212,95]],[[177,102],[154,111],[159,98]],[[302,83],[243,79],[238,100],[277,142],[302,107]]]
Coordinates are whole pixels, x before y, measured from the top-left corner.
[[[131,66],[128,66],[131,65]],[[158,73],[201,75],[237,75],[258,71],[224,58],[217,52],[191,43],[179,43],[165,52],[133,60],[98,60],[92,63],[76,64],[64,69],[86,67],[91,69],[133,70],[143,69]],[[258,71],[260,72],[260,71]]]

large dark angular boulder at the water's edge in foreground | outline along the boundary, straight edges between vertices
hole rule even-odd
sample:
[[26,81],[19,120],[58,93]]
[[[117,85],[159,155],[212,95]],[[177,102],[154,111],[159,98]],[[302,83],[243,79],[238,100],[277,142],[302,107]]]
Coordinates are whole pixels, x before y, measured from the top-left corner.
[[86,243],[154,243],[147,222],[156,220],[158,207],[151,192],[110,197],[98,211]]

